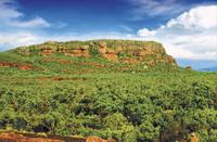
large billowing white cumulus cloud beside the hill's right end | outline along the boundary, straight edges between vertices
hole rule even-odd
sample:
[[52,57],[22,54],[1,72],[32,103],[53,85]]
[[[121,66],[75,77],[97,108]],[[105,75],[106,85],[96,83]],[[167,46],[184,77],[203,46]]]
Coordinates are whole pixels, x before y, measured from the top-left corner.
[[163,42],[177,59],[217,61],[216,13],[217,5],[193,8],[155,30],[140,29],[138,36]]

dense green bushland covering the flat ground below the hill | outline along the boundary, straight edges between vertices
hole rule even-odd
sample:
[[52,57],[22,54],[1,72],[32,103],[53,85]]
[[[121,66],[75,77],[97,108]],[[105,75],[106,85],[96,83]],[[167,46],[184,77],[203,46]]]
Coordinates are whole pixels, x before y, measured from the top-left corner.
[[175,141],[188,139],[191,132],[202,141],[217,139],[214,73],[123,73],[82,78],[86,80],[10,87],[1,82],[0,128],[129,142]]

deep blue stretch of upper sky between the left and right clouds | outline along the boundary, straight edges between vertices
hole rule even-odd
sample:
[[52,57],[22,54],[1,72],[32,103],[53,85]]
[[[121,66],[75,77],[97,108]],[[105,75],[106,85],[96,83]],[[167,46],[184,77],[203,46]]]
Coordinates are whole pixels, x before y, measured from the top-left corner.
[[59,33],[69,29],[79,34],[136,33],[142,27],[154,29],[192,7],[215,3],[215,0],[156,0],[158,4],[152,5],[152,1],[154,0],[16,0],[16,3],[20,12],[26,14],[24,20],[41,16],[49,23],[64,25],[64,28],[56,30]]

